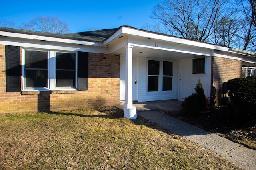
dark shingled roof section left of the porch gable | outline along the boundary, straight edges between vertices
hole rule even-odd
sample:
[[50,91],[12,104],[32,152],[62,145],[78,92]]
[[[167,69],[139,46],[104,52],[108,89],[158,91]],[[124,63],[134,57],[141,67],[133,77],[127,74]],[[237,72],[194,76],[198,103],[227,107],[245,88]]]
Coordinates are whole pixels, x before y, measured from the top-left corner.
[[22,34],[28,34],[28,35],[39,35],[39,36],[46,36],[46,37],[72,39],[72,40],[89,41],[89,42],[103,41],[118,29],[119,28],[113,28],[113,29],[102,29],[97,31],[81,32],[81,33],[59,34],[59,33],[47,33],[47,32],[28,31],[23,29],[0,27],[0,31],[4,31],[4,32],[22,33]]

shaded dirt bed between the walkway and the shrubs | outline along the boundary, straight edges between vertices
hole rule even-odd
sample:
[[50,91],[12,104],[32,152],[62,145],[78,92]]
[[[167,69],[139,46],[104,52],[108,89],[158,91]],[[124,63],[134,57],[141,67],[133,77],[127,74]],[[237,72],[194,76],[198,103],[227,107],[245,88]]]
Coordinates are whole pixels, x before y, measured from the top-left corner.
[[226,107],[208,108],[197,116],[186,117],[180,113],[174,117],[256,150],[256,122],[237,126]]

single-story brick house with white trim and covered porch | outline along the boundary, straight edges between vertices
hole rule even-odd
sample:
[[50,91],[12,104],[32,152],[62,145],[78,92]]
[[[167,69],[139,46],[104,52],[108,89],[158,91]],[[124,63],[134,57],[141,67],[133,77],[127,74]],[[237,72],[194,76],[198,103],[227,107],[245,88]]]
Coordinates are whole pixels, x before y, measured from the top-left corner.
[[180,100],[201,80],[208,104],[222,84],[255,75],[256,53],[130,26],[56,34],[0,28],[0,113],[58,111],[125,101]]

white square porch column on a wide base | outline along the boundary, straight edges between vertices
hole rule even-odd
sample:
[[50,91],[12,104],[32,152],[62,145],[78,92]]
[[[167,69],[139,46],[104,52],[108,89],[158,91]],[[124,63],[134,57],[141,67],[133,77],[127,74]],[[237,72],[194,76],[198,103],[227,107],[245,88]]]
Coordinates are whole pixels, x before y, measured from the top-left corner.
[[128,119],[136,119],[136,107],[132,106],[132,45],[125,46],[125,103],[124,117]]

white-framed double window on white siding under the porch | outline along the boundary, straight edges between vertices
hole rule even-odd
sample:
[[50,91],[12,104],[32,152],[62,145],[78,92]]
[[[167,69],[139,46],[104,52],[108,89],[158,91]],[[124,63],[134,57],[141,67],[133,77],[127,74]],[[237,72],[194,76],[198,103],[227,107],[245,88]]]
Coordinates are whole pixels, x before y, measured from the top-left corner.
[[173,62],[148,60],[148,92],[171,91]]

